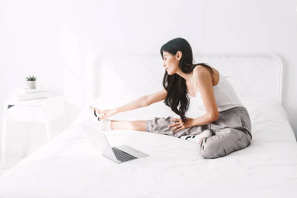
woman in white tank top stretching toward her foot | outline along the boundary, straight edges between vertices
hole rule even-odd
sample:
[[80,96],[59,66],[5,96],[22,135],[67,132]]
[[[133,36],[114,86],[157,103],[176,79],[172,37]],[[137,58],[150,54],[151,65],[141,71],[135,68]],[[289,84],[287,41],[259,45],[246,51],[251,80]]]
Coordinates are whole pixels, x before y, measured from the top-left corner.
[[[116,109],[94,108],[96,112],[104,114],[99,115],[102,121],[100,129],[130,129],[195,140],[200,144],[200,152],[205,158],[222,157],[250,145],[249,114],[231,83],[205,63],[192,64],[192,48],[185,39],[176,38],[167,42],[160,52],[166,70],[164,89]],[[181,118],[154,117],[140,121],[107,119],[116,113],[162,100]],[[205,111],[205,114],[198,118],[186,117],[190,104]]]

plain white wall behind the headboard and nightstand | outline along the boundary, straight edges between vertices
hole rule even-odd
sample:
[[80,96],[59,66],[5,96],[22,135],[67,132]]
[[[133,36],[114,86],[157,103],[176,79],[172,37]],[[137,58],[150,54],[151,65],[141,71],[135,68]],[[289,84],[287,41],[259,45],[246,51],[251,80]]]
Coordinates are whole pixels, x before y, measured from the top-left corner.
[[284,108],[297,133],[296,7],[297,0],[1,0],[0,103],[34,73],[39,85],[65,97],[62,130],[87,103],[96,53],[159,53],[182,37],[194,53],[281,56]]

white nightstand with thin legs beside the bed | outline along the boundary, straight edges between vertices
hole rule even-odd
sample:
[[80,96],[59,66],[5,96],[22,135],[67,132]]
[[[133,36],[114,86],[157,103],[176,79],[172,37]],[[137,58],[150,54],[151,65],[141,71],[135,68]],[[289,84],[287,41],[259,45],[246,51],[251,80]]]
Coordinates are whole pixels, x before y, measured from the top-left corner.
[[[61,97],[33,99],[25,101],[5,100],[3,106],[3,126],[1,145],[1,168],[5,167],[6,121],[45,122],[48,142],[51,140],[50,121],[64,115],[64,99]],[[25,144],[27,145],[27,144]],[[24,150],[24,146],[23,146]],[[23,154],[22,150],[22,154]]]

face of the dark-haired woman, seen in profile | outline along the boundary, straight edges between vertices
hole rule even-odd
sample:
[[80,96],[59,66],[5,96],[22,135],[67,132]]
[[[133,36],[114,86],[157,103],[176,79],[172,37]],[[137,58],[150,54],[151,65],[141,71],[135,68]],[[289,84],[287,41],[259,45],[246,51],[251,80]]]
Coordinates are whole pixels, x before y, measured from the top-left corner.
[[176,71],[178,71],[180,57],[180,51],[178,51],[175,55],[171,55],[167,51],[163,51],[163,66],[165,67],[168,75],[175,74]]

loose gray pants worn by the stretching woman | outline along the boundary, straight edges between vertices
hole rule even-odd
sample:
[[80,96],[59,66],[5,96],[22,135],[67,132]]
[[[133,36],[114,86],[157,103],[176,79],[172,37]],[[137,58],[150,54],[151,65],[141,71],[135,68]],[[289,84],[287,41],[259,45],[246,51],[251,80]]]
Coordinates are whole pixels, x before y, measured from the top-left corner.
[[175,136],[198,135],[210,130],[212,136],[201,140],[200,152],[205,158],[223,157],[231,152],[246,148],[251,142],[251,123],[246,107],[236,106],[219,112],[217,121],[190,127],[178,132],[170,131],[168,125],[176,122],[166,118],[154,117],[146,120],[146,132]]

